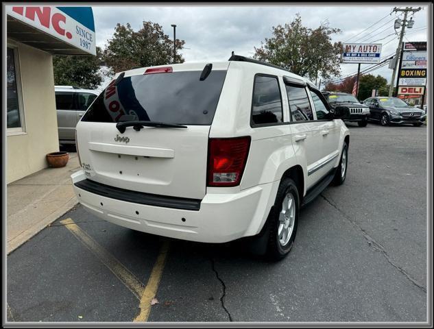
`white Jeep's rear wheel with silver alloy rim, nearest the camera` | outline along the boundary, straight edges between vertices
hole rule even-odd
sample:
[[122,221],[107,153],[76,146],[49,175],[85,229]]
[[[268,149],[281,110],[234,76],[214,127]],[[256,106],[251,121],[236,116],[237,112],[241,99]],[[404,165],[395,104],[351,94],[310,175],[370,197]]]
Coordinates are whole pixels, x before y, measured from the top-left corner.
[[270,230],[267,259],[281,260],[291,251],[296,239],[299,208],[297,185],[291,178],[284,178],[280,182],[276,201],[268,217]]

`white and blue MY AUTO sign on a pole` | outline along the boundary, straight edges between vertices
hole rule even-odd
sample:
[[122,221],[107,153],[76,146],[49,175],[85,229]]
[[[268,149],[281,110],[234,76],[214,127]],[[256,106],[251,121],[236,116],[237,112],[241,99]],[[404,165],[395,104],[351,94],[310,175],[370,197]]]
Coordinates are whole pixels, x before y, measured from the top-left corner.
[[380,62],[380,43],[344,43],[341,62],[375,64]]

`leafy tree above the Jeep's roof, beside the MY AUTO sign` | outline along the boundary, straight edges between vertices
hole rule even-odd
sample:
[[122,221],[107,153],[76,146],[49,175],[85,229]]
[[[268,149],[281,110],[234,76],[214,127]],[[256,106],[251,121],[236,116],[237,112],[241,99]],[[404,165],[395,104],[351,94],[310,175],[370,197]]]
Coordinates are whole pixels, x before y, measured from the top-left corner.
[[331,36],[341,32],[328,26],[310,29],[302,25],[300,14],[291,24],[272,27],[272,38],[265,38],[261,47],[254,47],[254,58],[282,66],[311,80],[318,76],[327,80],[340,75],[341,42],[331,42]]

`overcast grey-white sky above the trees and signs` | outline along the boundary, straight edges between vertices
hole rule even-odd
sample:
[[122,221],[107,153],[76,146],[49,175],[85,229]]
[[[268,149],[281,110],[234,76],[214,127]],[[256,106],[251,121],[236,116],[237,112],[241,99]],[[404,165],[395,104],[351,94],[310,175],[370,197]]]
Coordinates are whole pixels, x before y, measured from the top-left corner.
[[[409,3],[411,5],[411,3]],[[291,23],[300,13],[303,25],[311,28],[328,21],[330,27],[341,29],[333,41],[350,39],[349,42],[383,43],[382,57],[396,51],[398,36],[394,34],[396,13],[389,15],[394,6],[319,6],[319,5],[244,5],[244,6],[93,6],[97,45],[104,47],[111,38],[117,23],[130,23],[134,30],[141,28],[142,21],[152,21],[162,25],[165,34],[173,38],[176,24],[176,37],[185,40],[182,50],[186,62],[228,60],[231,51],[237,55],[252,57],[254,47],[272,36],[272,26]],[[410,41],[426,41],[428,8],[413,16],[413,29],[406,29]],[[385,17],[387,16],[387,17]],[[383,17],[385,17],[383,19]],[[400,15],[402,19],[402,14]],[[381,20],[383,19],[383,20]],[[380,21],[381,20],[381,21]],[[378,22],[367,31],[359,34],[370,25]],[[356,36],[359,34],[358,36]],[[391,34],[391,35],[390,35]],[[406,38],[404,39],[405,41]],[[369,66],[362,64],[361,69]],[[345,77],[357,72],[357,64],[341,64],[341,75]],[[373,71],[391,79],[391,69],[387,66]]]

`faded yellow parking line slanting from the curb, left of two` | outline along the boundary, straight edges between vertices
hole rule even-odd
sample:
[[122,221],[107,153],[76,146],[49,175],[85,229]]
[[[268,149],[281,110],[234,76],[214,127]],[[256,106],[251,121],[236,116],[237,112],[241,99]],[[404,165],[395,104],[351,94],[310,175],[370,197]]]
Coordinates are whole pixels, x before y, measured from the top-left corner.
[[112,271],[112,273],[121,280],[125,286],[134,293],[134,295],[141,300],[143,298],[143,293],[145,287],[143,287],[143,283],[134,276],[125,266],[123,266],[119,260],[114,258],[111,254],[109,254],[106,249],[101,247],[91,236],[89,236],[84,230],[77,226],[71,218],[64,219],[60,221],[60,223],[64,224],[65,228],[67,228],[78,241],[83,243],[101,262]]

